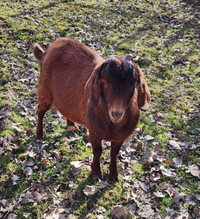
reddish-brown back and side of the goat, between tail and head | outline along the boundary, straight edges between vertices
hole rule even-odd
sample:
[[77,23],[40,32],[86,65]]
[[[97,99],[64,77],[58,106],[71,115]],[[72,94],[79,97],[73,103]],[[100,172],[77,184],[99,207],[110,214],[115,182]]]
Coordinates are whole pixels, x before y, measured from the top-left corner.
[[100,62],[103,59],[84,44],[60,38],[51,44],[41,60],[39,88],[46,87],[53,105],[66,118],[87,126],[84,87]]

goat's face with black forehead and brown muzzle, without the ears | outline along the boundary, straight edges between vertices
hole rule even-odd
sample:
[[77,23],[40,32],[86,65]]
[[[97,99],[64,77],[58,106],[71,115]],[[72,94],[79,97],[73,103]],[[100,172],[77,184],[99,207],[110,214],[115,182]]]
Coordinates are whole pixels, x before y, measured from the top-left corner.
[[119,122],[133,96],[137,81],[136,69],[130,60],[113,57],[105,61],[101,72],[101,96],[112,122]]

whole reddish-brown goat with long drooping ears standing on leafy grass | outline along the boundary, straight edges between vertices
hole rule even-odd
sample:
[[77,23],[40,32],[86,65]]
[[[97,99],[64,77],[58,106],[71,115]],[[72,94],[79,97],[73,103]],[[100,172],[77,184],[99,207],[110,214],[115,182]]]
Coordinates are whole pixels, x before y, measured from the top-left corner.
[[102,140],[111,141],[110,176],[118,179],[120,147],[136,128],[139,109],[149,107],[150,93],[141,69],[131,55],[104,60],[67,38],[55,40],[47,51],[35,44],[34,55],[40,60],[37,137],[43,137],[43,117],[54,105],[68,125],[76,122],[88,128],[92,175],[101,177]]

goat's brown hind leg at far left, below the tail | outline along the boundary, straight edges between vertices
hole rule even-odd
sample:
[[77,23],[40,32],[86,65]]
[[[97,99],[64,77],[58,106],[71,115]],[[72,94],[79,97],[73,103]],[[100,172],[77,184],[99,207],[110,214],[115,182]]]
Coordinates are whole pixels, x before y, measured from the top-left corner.
[[52,98],[50,92],[44,87],[38,87],[38,122],[37,122],[37,138],[43,139],[43,119],[45,113],[50,109],[52,105]]

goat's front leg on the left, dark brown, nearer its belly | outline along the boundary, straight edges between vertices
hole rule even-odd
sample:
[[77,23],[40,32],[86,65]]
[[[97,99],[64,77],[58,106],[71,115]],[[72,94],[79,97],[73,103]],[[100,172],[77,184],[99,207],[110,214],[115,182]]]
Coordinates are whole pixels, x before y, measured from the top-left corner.
[[90,142],[92,144],[92,151],[93,151],[93,161],[91,164],[91,169],[92,172],[91,174],[93,176],[98,176],[101,178],[102,173],[101,173],[101,167],[100,167],[100,158],[102,154],[102,143],[101,139],[97,138],[96,136],[93,136],[90,134],[89,136]]

